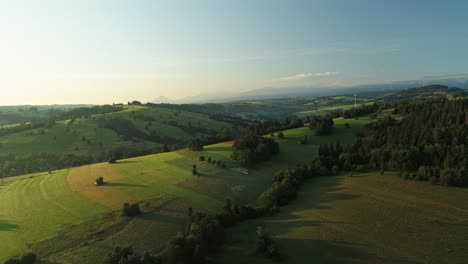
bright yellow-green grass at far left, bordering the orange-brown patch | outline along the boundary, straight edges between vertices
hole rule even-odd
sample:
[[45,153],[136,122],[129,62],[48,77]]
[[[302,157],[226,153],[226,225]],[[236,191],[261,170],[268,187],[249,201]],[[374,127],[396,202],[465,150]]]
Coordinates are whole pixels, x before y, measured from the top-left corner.
[[74,193],[67,171],[39,174],[0,189],[0,261],[26,244],[53,236],[56,230],[107,211]]

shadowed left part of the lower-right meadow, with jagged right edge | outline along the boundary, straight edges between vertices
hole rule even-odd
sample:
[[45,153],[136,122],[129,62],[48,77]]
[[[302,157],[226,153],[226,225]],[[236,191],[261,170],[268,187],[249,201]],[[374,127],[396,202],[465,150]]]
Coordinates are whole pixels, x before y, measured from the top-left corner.
[[[341,176],[310,179],[301,187],[298,199],[281,208],[279,214],[234,227],[229,231],[229,252],[226,252],[228,254],[223,257],[222,262],[231,263],[229,259],[238,259],[234,256],[243,255],[247,257],[246,261],[268,263],[252,254],[252,249],[255,248],[255,229],[259,225],[265,226],[267,232],[274,236],[285,258],[284,263],[387,262],[388,260],[369,254],[367,249],[371,245],[340,239],[339,230],[350,228],[356,223],[321,217],[320,210],[330,209],[333,202],[360,197],[346,193],[342,180]],[[335,232],[337,235],[329,235],[328,232]],[[402,259],[394,260],[398,263],[405,262]]]

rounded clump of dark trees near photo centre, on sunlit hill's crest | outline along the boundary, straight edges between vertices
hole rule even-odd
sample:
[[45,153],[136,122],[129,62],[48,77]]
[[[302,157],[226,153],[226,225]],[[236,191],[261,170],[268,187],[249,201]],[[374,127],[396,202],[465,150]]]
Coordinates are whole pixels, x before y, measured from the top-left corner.
[[270,160],[279,154],[279,145],[272,138],[247,136],[236,139],[232,146],[232,158],[244,166]]

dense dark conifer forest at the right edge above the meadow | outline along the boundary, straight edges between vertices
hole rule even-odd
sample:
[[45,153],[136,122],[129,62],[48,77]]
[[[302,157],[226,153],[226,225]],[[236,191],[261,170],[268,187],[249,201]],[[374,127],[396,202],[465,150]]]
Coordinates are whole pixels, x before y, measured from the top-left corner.
[[394,112],[403,119],[388,116],[369,123],[341,160],[398,170],[405,178],[468,186],[468,100],[417,100],[398,104]]

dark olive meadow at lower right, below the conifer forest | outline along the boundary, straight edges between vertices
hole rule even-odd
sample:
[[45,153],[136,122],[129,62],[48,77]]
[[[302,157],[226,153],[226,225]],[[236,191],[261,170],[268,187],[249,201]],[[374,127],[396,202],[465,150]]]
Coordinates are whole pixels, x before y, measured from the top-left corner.
[[468,190],[405,181],[393,174],[321,177],[273,217],[229,230],[217,263],[270,263],[253,256],[262,225],[283,263],[464,263]]

